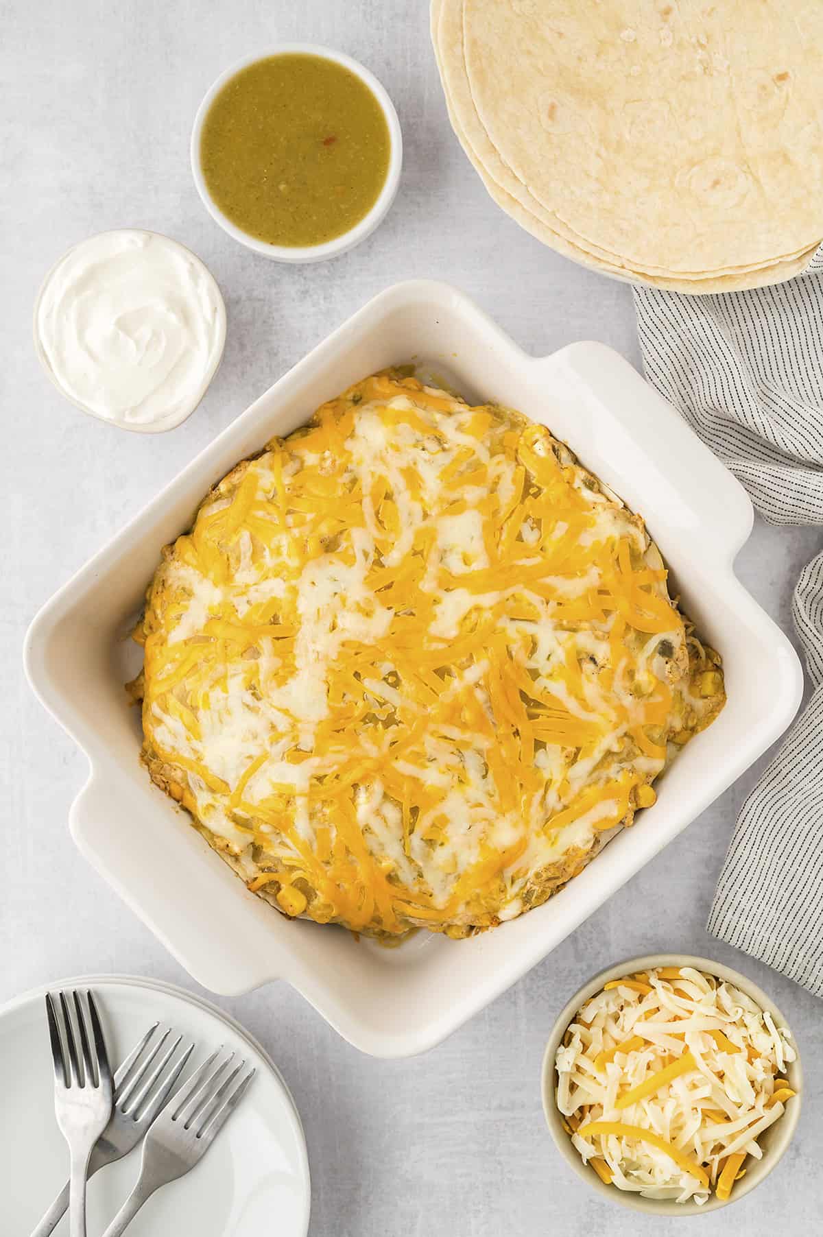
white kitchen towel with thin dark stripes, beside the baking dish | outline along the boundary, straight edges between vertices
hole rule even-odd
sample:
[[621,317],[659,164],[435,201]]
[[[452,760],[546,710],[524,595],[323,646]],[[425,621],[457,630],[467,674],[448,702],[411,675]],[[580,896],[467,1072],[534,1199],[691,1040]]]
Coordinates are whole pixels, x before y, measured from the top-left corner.
[[[776,287],[634,296],[648,381],[764,520],[823,526],[823,246]],[[793,617],[814,694],[743,807],[708,929],[823,996],[823,553]]]

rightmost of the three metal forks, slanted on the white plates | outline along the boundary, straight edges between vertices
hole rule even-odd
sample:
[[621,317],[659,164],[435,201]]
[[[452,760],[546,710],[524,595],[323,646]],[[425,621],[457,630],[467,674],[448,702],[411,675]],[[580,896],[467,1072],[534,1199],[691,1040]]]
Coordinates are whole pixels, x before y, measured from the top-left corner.
[[120,1237],[155,1190],[168,1181],[176,1181],[178,1176],[194,1168],[214,1142],[220,1127],[240,1103],[255,1070],[249,1070],[238,1080],[246,1064],[240,1061],[223,1079],[234,1059],[234,1053],[212,1069],[219,1055],[218,1050],[203,1061],[199,1070],[187,1079],[151,1126],[142,1144],[137,1184],[106,1228],[104,1237]]

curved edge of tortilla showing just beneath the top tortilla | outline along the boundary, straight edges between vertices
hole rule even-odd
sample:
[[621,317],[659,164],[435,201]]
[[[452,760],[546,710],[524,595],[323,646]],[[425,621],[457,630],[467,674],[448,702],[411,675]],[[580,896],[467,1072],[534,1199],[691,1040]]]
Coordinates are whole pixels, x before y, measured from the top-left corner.
[[[564,256],[595,270],[601,270],[615,278],[636,282],[640,277],[655,286],[681,292],[735,291],[739,287],[752,287],[755,283],[778,282],[804,268],[816,245],[803,250],[799,255],[791,254],[765,263],[761,268],[762,275],[759,275],[756,280],[748,278],[745,281],[728,278],[728,276],[743,273],[743,271],[734,268],[723,272],[688,272],[678,276],[672,276],[660,268],[635,270],[631,263],[592,245],[545,210],[514,176],[491,145],[474,109],[465,72],[462,0],[433,0],[431,25],[434,54],[452,126],[493,199],[538,240],[551,245]],[[770,270],[766,273],[767,267]],[[744,271],[746,270],[744,268]],[[718,275],[723,275],[723,282],[719,285],[717,283]],[[684,280],[689,282],[692,280],[710,280],[713,285],[709,287],[708,283],[704,283],[699,289],[693,289],[683,283]]]

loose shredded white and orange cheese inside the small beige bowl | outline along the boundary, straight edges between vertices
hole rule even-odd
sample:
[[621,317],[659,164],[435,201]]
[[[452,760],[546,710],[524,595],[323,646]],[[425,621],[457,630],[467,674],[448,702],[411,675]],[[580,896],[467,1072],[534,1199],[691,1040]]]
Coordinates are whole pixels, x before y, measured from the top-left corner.
[[603,1181],[648,1199],[728,1199],[795,1091],[796,1059],[745,992],[691,967],[608,983],[557,1050],[557,1107]]

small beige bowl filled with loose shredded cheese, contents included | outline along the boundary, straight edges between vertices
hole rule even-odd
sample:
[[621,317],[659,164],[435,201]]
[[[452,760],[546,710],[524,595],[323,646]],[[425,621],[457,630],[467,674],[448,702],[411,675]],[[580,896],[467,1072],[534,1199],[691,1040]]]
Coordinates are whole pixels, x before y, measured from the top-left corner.
[[704,957],[631,959],[561,1013],[543,1107],[561,1154],[599,1192],[653,1215],[724,1207],[786,1150],[802,1071],[786,1019]]

